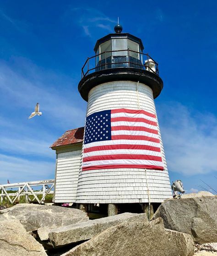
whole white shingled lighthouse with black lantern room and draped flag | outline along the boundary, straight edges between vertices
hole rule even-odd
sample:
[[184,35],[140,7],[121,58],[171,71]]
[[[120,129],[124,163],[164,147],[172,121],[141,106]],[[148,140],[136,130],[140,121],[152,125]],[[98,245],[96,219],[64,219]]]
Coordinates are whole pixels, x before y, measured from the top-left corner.
[[163,81],[141,39],[119,24],[114,31],[97,41],[78,85],[88,104],[76,203],[106,204],[109,215],[137,203],[150,213],[172,197],[154,103]]

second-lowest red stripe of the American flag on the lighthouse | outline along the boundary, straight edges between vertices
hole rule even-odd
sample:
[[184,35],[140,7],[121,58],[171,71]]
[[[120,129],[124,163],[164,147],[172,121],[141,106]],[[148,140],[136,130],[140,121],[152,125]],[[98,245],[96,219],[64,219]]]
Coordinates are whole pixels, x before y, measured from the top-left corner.
[[153,161],[162,162],[161,157],[150,156],[150,155],[132,155],[132,154],[92,156],[92,157],[83,158],[83,162],[115,160],[115,159],[140,159],[140,160],[153,160]]

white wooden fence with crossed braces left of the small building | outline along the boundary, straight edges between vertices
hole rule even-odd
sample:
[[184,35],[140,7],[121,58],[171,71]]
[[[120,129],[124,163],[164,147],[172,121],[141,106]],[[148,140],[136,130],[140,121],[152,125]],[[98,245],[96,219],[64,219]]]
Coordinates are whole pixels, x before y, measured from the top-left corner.
[[[33,187],[37,187],[37,191],[33,191]],[[21,196],[25,196],[25,201],[31,201],[30,195],[34,196],[39,204],[43,203],[45,196],[54,194],[52,190],[54,188],[54,180],[38,180],[28,181],[23,183],[11,183],[11,184],[0,184],[0,203],[5,198],[13,204],[16,201],[20,201]],[[7,193],[8,189],[16,189],[14,193]],[[38,195],[42,195],[42,199],[38,198]]]

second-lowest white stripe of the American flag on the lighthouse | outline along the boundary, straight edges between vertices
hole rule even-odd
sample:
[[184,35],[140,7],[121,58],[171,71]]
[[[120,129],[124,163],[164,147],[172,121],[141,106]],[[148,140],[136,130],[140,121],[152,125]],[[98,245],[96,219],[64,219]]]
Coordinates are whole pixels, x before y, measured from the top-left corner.
[[144,150],[144,149],[111,149],[111,150],[100,150],[84,153],[83,157],[92,157],[98,155],[117,155],[117,154],[129,154],[129,155],[149,155],[155,157],[161,157],[160,152]]

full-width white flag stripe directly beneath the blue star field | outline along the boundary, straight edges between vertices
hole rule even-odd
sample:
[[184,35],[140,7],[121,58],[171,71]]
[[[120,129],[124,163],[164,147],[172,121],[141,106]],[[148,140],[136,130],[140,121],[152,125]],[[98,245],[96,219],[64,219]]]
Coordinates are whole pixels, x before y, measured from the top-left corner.
[[152,146],[152,147],[160,147],[160,143],[143,141],[143,140],[109,140],[109,141],[91,142],[88,144],[84,144],[84,148],[107,146],[107,145],[146,145],[146,146]]

